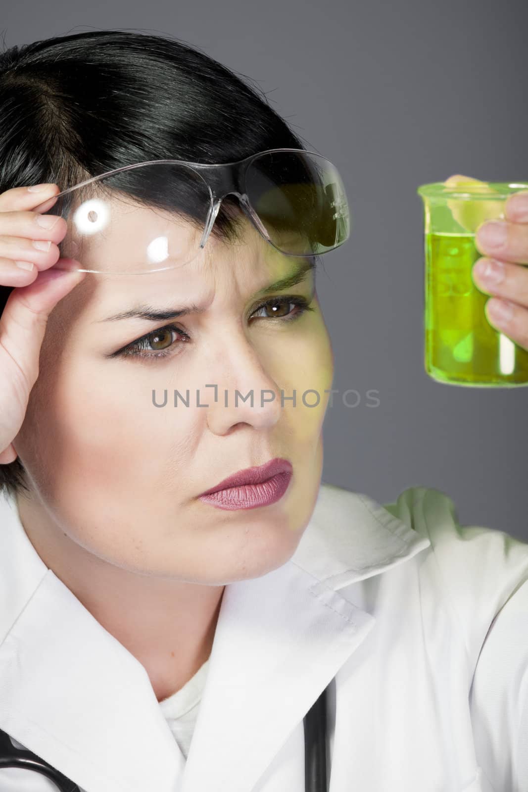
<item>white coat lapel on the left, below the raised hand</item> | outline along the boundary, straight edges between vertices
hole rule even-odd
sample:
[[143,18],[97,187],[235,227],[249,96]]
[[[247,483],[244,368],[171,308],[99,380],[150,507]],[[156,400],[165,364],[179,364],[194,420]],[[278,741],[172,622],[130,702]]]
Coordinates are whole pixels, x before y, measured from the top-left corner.
[[47,569],[2,498],[0,514],[2,637],[22,607],[0,645],[0,728],[83,790],[179,792],[184,756],[145,668]]

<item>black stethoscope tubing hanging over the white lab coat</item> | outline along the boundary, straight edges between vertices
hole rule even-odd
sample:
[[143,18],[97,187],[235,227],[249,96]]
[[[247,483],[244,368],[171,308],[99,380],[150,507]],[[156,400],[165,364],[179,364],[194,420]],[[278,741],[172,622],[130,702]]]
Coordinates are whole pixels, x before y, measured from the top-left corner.
[[[304,768],[306,792],[326,792],[326,688],[303,718]],[[59,792],[81,792],[66,775],[44,762],[26,748],[16,748],[9,734],[0,729],[0,770],[20,767],[31,770],[55,783]]]

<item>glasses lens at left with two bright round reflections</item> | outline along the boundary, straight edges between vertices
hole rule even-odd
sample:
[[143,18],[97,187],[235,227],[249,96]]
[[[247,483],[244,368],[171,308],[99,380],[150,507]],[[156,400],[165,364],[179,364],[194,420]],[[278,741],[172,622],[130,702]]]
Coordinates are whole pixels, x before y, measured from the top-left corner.
[[192,261],[212,201],[195,170],[158,162],[90,181],[49,204],[41,204],[44,214],[67,223],[59,250],[61,258],[75,260],[69,266],[136,274]]

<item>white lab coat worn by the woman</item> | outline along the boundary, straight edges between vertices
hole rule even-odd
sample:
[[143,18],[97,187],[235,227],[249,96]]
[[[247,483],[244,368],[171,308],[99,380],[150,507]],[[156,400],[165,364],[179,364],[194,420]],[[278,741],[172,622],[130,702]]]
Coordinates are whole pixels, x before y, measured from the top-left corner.
[[437,489],[323,483],[291,560],[226,587],[187,763],[3,497],[0,603],[0,728],[85,792],[302,792],[329,683],[329,792],[528,790],[528,544]]

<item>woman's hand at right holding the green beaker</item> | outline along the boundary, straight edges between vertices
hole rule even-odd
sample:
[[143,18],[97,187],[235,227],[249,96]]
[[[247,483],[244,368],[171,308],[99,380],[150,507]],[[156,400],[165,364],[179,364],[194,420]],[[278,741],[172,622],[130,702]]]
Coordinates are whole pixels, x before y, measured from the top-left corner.
[[477,288],[492,295],[484,309],[488,322],[528,350],[528,191],[508,196],[504,218],[477,228],[475,245],[483,257],[471,274]]

